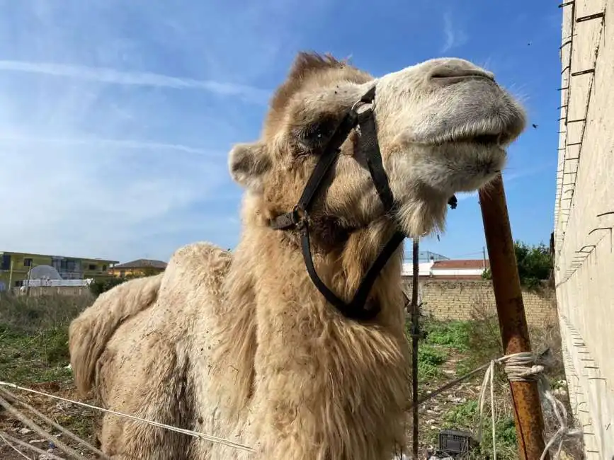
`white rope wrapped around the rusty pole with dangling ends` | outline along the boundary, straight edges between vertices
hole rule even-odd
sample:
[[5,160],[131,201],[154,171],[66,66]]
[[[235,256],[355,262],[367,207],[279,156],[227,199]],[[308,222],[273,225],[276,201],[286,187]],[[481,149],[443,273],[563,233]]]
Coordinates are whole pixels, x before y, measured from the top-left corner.
[[495,442],[495,420],[494,420],[494,366],[495,364],[502,364],[509,381],[537,381],[540,396],[543,396],[552,405],[552,410],[555,412],[557,422],[559,422],[559,429],[552,435],[550,441],[547,442],[544,452],[540,456],[540,460],[544,460],[550,447],[558,443],[557,452],[555,454],[555,460],[559,459],[563,448],[563,442],[567,437],[579,436],[582,431],[579,429],[572,429],[567,424],[567,410],[561,401],[559,401],[550,391],[550,384],[548,384],[543,372],[544,367],[538,364],[538,357],[533,352],[520,352],[513,355],[506,355],[496,360],[491,360],[486,373],[484,374],[484,381],[482,381],[482,390],[479,393],[479,425],[478,425],[478,440],[482,441],[482,414],[484,412],[484,400],[486,399],[486,389],[490,386],[490,406],[491,406],[491,428],[492,428],[492,455],[493,460],[496,460],[496,442]]

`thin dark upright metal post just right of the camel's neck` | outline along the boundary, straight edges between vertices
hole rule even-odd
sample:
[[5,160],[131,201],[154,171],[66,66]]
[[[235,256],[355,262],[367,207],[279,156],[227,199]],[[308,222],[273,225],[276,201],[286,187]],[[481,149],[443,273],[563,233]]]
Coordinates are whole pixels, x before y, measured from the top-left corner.
[[418,339],[420,337],[419,327],[419,305],[418,305],[418,289],[419,276],[420,276],[420,264],[419,264],[419,238],[413,238],[413,245],[411,251],[411,260],[413,263],[413,276],[411,277],[411,401],[414,401],[414,406],[411,408],[412,415],[412,443],[411,451],[414,456],[414,460],[418,460]]

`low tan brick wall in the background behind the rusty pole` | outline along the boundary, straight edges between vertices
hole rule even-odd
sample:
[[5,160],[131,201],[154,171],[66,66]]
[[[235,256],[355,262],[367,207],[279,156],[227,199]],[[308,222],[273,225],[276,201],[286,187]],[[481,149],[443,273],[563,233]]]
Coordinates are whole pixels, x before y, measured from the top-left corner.
[[[411,278],[405,283],[410,295]],[[475,309],[496,314],[490,281],[420,280],[419,293],[424,313],[437,319],[468,320]],[[539,294],[523,291],[523,301],[529,326],[544,327],[558,322],[555,295],[551,289],[545,288]]]

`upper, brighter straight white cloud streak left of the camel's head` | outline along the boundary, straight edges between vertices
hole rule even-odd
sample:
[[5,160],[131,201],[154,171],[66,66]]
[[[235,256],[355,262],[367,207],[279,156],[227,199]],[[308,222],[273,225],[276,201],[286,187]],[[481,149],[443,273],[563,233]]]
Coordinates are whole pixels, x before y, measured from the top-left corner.
[[222,96],[241,96],[258,102],[266,102],[270,91],[263,91],[252,86],[179,78],[149,72],[125,72],[104,67],[85,67],[75,65],[53,64],[50,62],[25,62],[0,60],[0,71],[25,72],[47,76],[67,77],[106,84],[153,86],[160,88],[192,89],[210,91]]

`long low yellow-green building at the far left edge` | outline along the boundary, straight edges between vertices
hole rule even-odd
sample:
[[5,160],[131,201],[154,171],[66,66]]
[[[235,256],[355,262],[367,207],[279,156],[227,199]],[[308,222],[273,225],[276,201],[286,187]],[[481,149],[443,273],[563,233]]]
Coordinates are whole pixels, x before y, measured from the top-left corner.
[[30,269],[41,265],[55,268],[62,280],[96,280],[108,276],[109,268],[116,263],[117,260],[4,251],[0,252],[0,291],[23,286]]

